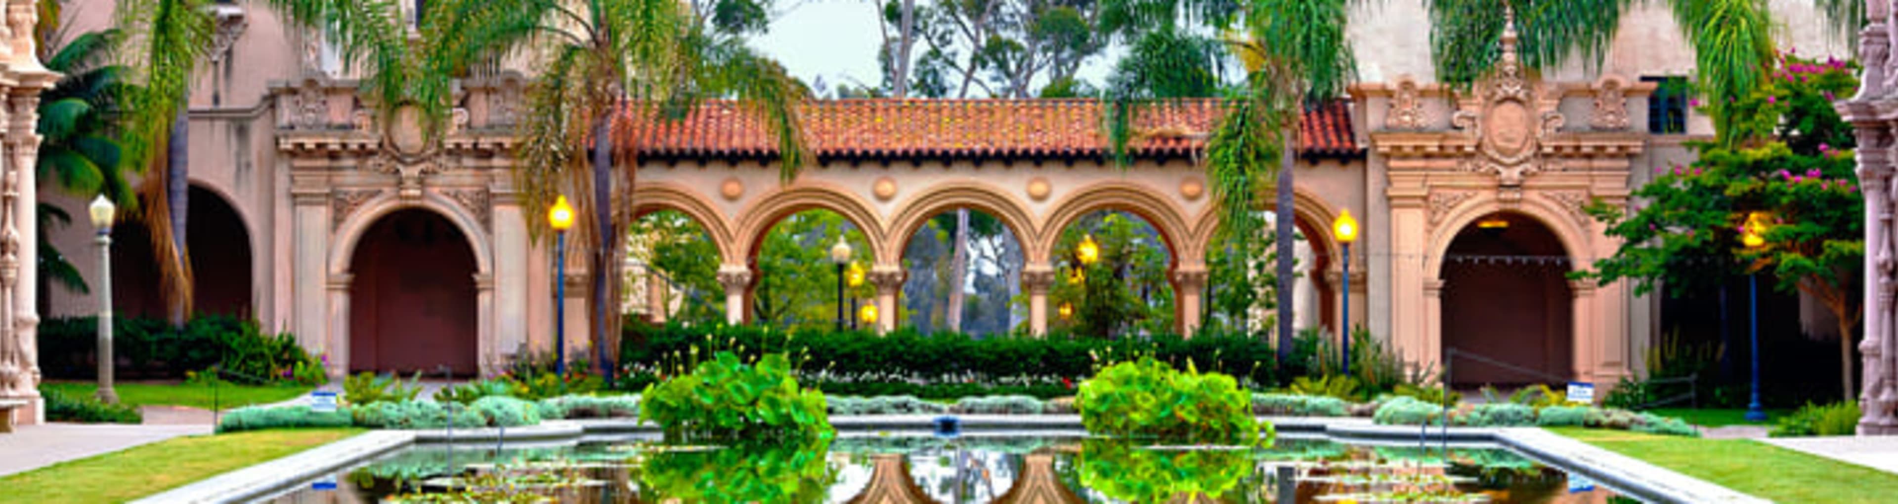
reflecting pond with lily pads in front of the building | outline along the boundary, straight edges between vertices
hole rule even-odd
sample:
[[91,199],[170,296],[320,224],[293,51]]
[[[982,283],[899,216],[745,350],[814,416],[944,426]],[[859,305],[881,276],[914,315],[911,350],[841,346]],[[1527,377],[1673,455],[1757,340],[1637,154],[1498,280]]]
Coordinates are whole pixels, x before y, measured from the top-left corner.
[[[1279,485],[1281,481],[1293,485]],[[1636,502],[1507,449],[865,436],[412,447],[268,502]]]

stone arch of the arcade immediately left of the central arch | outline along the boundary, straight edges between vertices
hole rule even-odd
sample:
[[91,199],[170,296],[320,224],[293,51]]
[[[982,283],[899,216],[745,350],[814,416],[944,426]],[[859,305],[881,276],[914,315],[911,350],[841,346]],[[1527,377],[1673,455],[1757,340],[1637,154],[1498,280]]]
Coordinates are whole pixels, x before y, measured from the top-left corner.
[[[864,233],[864,239],[871,243],[871,248],[883,248],[888,241],[884,233],[883,220],[871,210],[869,201],[864,201],[856,193],[829,186],[829,184],[801,184],[793,188],[776,189],[757,203],[752,203],[742,212],[738,212],[738,258],[750,263],[750,258],[757,254],[759,243],[772,225],[780,220],[803,212],[803,210],[831,210],[856,225]],[[883,250],[873,250],[877,261],[886,261]]]

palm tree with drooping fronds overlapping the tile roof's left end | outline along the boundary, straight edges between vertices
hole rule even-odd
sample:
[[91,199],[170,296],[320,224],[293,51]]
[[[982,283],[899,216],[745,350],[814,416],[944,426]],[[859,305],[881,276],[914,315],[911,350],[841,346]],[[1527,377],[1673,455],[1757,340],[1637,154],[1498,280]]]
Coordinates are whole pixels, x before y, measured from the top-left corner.
[[[807,91],[674,0],[452,0],[429,15],[440,21],[425,38],[444,47],[429,55],[433,68],[454,74],[509,53],[535,57],[543,68],[518,127],[522,169],[514,174],[524,207],[545,208],[571,193],[583,216],[575,243],[592,252],[596,362],[611,377],[621,290],[611,271],[624,246],[621,229],[634,216],[626,195],[638,174],[638,131],[685,116],[700,99],[736,99],[776,136],[780,176],[791,180],[809,157],[797,119]],[[547,235],[543,220],[528,225]]]

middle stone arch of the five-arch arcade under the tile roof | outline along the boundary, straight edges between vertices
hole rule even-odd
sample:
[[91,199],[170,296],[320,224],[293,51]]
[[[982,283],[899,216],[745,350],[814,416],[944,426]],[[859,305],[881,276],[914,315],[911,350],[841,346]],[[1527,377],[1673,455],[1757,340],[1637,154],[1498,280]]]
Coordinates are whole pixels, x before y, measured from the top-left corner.
[[[1029,207],[1021,199],[989,184],[957,180],[930,186],[917,197],[898,205],[896,216],[890,220],[890,237],[879,244],[883,246],[879,258],[900,260],[909,235],[915,235],[936,214],[955,208],[974,208],[1002,220],[1021,244],[1038,241],[1040,229],[1034,229],[1034,218],[1029,216]],[[1027,254],[1025,260],[1029,263],[1048,261],[1046,256],[1036,258],[1029,250],[1023,250],[1023,254]]]

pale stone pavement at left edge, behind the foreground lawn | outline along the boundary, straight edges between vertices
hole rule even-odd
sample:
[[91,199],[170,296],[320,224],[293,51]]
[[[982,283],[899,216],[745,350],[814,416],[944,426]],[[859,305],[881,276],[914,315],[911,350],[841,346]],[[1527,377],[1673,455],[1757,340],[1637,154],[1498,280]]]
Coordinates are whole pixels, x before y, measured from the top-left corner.
[[27,424],[0,436],[0,476],[192,434],[211,424]]

